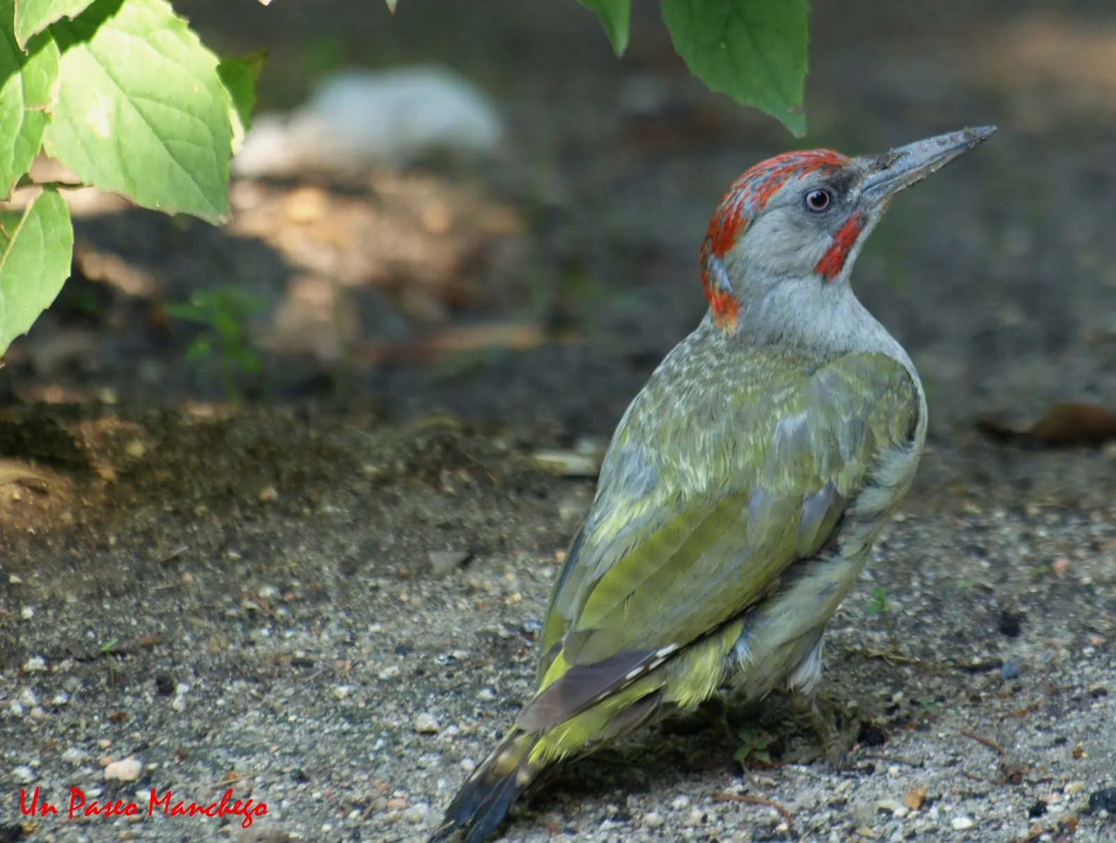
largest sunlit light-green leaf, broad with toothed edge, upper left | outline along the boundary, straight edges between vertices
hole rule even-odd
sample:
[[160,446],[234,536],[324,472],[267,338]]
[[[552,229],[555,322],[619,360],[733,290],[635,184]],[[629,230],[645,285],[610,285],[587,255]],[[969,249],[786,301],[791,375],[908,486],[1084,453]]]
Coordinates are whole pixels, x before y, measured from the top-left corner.
[[223,221],[232,99],[186,21],[163,0],[96,0],[50,32],[62,56],[47,153],[145,207]]

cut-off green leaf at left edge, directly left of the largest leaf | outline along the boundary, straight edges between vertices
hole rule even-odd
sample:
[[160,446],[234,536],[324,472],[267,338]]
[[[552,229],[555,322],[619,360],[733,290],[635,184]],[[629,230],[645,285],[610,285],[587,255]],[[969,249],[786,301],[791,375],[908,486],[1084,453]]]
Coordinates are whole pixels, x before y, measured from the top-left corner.
[[0,0],[0,196],[31,166],[42,146],[47,109],[58,76],[58,48],[47,36],[30,52],[20,49],[10,25],[15,0]]

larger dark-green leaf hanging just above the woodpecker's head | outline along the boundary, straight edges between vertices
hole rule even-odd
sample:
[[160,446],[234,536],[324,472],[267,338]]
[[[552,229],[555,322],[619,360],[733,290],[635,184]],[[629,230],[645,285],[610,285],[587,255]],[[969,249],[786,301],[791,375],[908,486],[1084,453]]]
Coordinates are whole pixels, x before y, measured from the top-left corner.
[[662,0],[674,49],[711,90],[806,134],[808,0]]

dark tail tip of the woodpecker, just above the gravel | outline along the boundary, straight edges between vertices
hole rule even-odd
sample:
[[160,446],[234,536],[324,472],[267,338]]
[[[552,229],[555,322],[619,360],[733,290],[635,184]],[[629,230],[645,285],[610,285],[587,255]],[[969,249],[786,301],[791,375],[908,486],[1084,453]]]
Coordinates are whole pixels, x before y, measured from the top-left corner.
[[430,843],[445,840],[459,830],[465,832],[465,843],[480,843],[492,834],[512,803],[541,772],[541,767],[529,763],[538,740],[538,735],[512,729],[462,785]]

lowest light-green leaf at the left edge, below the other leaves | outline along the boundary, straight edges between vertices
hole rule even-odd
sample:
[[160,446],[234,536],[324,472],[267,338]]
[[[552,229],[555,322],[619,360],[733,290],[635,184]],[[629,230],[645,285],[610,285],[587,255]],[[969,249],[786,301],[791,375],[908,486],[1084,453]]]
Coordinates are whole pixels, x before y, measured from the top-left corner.
[[36,196],[13,226],[4,215],[0,254],[0,355],[50,307],[70,273],[74,226],[58,191]]

